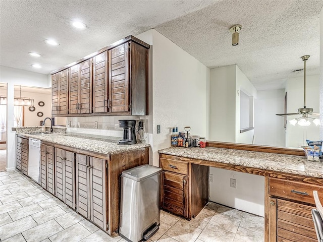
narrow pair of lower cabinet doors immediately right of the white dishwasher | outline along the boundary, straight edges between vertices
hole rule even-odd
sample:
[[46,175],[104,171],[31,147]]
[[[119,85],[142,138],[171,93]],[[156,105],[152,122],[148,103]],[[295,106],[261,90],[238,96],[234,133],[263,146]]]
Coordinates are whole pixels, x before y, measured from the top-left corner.
[[41,144],[40,146],[40,184],[51,194],[55,195],[54,147]]

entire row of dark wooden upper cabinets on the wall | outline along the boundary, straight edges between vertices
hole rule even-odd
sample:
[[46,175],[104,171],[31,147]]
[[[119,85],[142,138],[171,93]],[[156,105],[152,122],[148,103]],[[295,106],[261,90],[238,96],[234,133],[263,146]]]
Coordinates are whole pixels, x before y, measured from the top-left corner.
[[148,50],[130,35],[53,72],[52,115],[147,115]]

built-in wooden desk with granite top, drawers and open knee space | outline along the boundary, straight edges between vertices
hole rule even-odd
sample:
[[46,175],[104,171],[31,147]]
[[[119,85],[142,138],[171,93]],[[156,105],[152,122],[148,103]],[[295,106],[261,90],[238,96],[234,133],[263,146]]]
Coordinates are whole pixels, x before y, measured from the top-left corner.
[[[175,204],[180,208],[181,204],[176,198],[183,194],[183,210],[185,212],[187,209],[188,212],[182,216],[190,218],[197,215],[196,211],[205,205],[205,199],[208,198],[205,195],[207,175],[205,169],[199,167],[217,167],[263,175],[265,241],[317,241],[310,210],[315,206],[313,190],[318,190],[320,199],[323,200],[321,163],[307,161],[306,157],[298,155],[213,147],[167,148],[159,151],[159,157],[164,174],[162,208],[174,212],[163,206],[163,203]],[[201,192],[197,193],[199,189]],[[199,194],[200,199],[196,198],[196,194]],[[168,201],[165,202],[163,197]],[[194,203],[199,205],[198,209],[194,208]]]

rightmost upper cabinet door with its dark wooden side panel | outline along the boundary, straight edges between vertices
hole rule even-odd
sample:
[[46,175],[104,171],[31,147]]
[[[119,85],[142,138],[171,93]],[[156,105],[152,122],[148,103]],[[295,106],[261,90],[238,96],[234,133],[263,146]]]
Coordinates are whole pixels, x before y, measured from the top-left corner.
[[109,50],[109,106],[112,113],[148,114],[148,49],[128,41]]

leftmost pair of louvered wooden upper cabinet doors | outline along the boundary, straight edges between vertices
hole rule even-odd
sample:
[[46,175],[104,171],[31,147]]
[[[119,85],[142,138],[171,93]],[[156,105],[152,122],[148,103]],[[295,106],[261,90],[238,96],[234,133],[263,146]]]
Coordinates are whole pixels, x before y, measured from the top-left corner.
[[51,76],[52,114],[68,113],[68,71],[65,69]]

